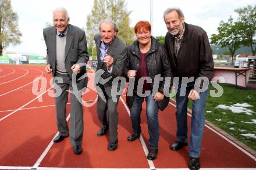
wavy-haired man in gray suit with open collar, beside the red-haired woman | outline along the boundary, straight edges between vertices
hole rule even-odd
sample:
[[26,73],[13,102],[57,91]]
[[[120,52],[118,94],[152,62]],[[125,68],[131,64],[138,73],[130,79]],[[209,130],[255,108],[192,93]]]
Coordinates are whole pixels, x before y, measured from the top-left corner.
[[[108,79],[104,84],[97,82],[97,113],[102,127],[98,136],[103,136],[109,130],[108,150],[118,148],[118,100],[120,95],[111,95],[112,88],[120,90],[120,82],[113,84],[113,79],[123,74],[126,61],[126,44],[116,34],[118,28],[112,20],[106,19],[99,23],[99,34],[94,37],[97,46],[97,72],[102,71],[101,79]],[[116,100],[117,99],[117,100]]]

